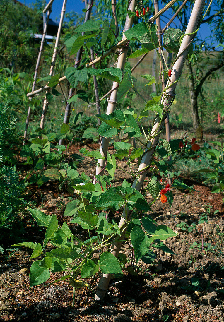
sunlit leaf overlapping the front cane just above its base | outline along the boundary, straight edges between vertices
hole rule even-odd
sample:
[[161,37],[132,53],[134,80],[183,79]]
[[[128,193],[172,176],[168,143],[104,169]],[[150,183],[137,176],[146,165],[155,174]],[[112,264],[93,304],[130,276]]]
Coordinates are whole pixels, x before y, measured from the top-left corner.
[[108,251],[104,251],[101,254],[99,267],[103,274],[123,274],[119,261],[113,254],[109,253]]

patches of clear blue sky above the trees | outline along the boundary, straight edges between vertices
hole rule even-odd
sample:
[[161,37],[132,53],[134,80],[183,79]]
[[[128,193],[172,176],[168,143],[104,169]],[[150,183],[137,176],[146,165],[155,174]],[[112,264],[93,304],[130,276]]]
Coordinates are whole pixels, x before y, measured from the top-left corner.
[[[32,6],[32,3],[34,1],[30,1],[30,0],[20,0],[21,2],[24,2],[26,5],[28,6]],[[48,2],[48,1],[47,1]],[[51,19],[59,21],[60,19],[60,14],[61,14],[61,9],[62,9],[62,4],[63,4],[63,0],[54,0],[54,3],[52,5],[52,13],[51,13]],[[67,5],[66,5],[66,12],[71,12],[72,10],[81,14],[82,10],[84,9],[85,5],[84,5],[84,1],[82,0],[67,0]],[[161,4],[160,4],[160,8],[161,8]],[[170,9],[168,11],[168,15],[167,17],[170,19],[171,18],[171,13],[172,10]],[[167,19],[167,21],[169,20]],[[166,22],[167,22],[166,21]],[[178,20],[174,20],[174,22],[176,21],[177,24],[177,28],[178,28]],[[161,26],[163,27],[165,24],[161,22]],[[171,25],[172,26],[172,25]],[[175,28],[175,26],[173,25],[173,27]],[[207,24],[201,24],[198,35],[201,37],[201,39],[205,39],[207,36],[211,35],[211,31],[208,27]],[[210,41],[208,41],[210,43]],[[215,44],[216,45],[216,44]]]

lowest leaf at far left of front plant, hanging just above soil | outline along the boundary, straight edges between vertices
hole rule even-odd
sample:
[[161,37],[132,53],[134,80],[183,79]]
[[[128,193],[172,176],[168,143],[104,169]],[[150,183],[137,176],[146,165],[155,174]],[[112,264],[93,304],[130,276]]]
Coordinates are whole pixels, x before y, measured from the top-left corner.
[[35,260],[30,267],[30,288],[48,280],[51,276],[50,270],[46,266],[39,266],[41,260]]

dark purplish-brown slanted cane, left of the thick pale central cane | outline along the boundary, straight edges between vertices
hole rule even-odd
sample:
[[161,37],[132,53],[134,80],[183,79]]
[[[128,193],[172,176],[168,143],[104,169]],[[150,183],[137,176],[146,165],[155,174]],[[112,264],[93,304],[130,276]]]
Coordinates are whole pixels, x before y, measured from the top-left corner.
[[[92,7],[93,7],[93,0],[89,0],[88,5],[87,5],[87,10],[85,13],[85,19],[84,19],[84,23],[90,19],[91,16],[91,11],[92,11]],[[84,33],[82,33],[82,36],[84,35]],[[83,47],[80,48],[76,54],[76,58],[75,58],[75,65],[74,68],[78,68],[79,63],[80,63],[80,59],[81,59],[81,55],[82,55],[82,51],[83,51]],[[70,99],[73,96],[74,93],[74,89],[70,88],[69,93],[68,93],[68,99]],[[68,124],[69,122],[69,116],[70,116],[70,111],[71,111],[71,104],[72,103],[66,103],[65,106],[65,111],[64,111],[64,119],[63,119],[63,123]],[[59,140],[59,146],[63,144],[63,139]]]

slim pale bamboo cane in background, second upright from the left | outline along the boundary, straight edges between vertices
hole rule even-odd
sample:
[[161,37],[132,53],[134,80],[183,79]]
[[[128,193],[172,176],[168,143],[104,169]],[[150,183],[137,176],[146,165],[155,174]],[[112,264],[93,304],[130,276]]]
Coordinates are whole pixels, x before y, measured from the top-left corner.
[[[58,53],[58,44],[59,44],[60,35],[61,35],[61,31],[62,31],[62,24],[63,24],[63,20],[64,20],[66,3],[67,3],[67,0],[64,0],[63,5],[62,5],[61,18],[60,18],[60,22],[59,22],[59,26],[58,26],[57,37],[56,37],[56,41],[55,41],[55,45],[54,45],[54,52],[53,52],[53,56],[52,56],[52,62],[51,62],[49,76],[53,76],[53,73],[54,73],[54,66],[55,66],[56,57],[57,57],[57,53]],[[41,122],[40,122],[40,128],[42,128],[42,129],[44,128],[45,114],[46,114],[46,109],[47,109],[47,105],[48,105],[46,94],[47,94],[47,92],[45,93],[44,105],[43,105]]]

